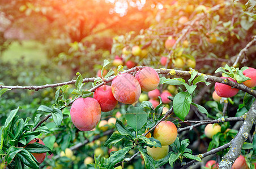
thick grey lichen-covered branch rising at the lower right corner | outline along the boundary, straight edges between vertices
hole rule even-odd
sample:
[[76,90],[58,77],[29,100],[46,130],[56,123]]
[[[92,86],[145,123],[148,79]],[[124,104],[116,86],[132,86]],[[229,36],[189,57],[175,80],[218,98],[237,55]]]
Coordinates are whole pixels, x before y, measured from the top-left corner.
[[251,127],[256,119],[256,101],[251,105],[250,110],[244,115],[244,118],[245,121],[242,124],[242,127],[231,141],[228,153],[224,155],[220,162],[220,169],[231,168],[234,161],[239,157],[242,145],[244,145],[245,141],[248,139],[249,132],[251,131]]

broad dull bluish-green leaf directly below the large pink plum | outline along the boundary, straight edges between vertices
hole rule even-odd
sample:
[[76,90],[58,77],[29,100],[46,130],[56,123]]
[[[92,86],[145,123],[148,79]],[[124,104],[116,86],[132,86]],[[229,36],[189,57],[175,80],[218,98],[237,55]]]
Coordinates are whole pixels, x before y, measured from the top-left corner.
[[125,119],[129,126],[138,131],[147,122],[147,113],[142,107],[130,106],[125,114]]

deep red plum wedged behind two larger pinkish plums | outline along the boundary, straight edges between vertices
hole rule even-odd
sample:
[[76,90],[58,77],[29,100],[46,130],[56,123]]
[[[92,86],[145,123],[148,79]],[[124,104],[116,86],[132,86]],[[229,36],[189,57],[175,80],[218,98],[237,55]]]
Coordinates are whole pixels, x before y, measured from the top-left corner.
[[93,98],[99,102],[102,112],[113,110],[118,103],[112,94],[111,86],[108,85],[97,88],[93,94]]

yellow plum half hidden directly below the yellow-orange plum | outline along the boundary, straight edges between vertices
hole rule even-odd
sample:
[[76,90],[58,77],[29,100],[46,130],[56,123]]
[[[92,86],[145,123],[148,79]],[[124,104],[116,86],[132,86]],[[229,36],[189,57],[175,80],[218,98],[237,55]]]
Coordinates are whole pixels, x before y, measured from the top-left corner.
[[162,145],[162,147],[152,147],[147,146],[148,155],[150,155],[153,159],[161,159],[164,158],[169,152],[168,145]]

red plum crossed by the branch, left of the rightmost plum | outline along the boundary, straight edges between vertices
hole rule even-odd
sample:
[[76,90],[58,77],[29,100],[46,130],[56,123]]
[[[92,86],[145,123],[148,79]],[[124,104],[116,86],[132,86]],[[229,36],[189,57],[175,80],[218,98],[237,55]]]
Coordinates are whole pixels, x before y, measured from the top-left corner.
[[[227,77],[220,77],[220,78],[226,79]],[[228,78],[228,79],[229,79],[229,81],[236,82],[232,78]],[[215,88],[217,95],[220,97],[233,97],[239,91],[239,89],[237,89],[237,88],[232,88],[231,86],[228,86],[227,84],[217,83],[217,82],[215,83],[214,88]]]

